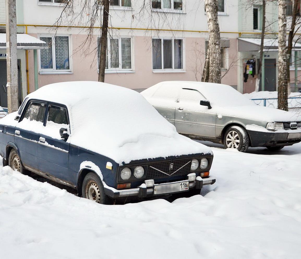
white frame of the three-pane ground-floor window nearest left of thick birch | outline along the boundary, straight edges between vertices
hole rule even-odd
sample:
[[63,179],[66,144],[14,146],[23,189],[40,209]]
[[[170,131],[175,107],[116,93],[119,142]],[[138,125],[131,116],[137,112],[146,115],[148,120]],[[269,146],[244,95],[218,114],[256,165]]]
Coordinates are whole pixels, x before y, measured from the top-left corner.
[[[162,68],[161,69],[153,69],[153,39],[161,39],[161,64],[162,64]],[[163,40],[172,40],[172,68],[163,68],[164,67],[164,55],[163,55]],[[182,39],[182,64],[183,67],[182,68],[174,68],[175,67],[175,39]],[[185,73],[185,38],[181,38],[181,37],[176,37],[176,38],[170,38],[170,37],[153,37],[152,38],[152,69],[153,69],[153,73]]]

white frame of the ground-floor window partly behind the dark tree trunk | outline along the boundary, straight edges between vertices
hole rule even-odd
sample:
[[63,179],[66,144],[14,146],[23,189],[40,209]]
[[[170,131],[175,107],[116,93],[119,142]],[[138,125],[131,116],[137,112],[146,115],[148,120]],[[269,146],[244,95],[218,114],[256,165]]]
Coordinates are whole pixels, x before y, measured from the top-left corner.
[[[131,39],[131,68],[122,68],[122,54],[121,54],[121,39],[122,38],[130,38]],[[98,37],[100,39],[100,37]],[[118,62],[119,62],[119,67],[110,67],[111,64],[111,39],[118,39]],[[98,40],[97,40],[98,44]],[[97,46],[98,49],[98,46]],[[100,50],[99,50],[100,51]],[[107,51],[108,51],[108,68],[104,70],[104,73],[134,73],[134,40],[133,37],[129,36],[116,36],[116,37],[109,37],[107,39]],[[99,60],[98,60],[98,53],[97,53],[97,71],[99,73]]]

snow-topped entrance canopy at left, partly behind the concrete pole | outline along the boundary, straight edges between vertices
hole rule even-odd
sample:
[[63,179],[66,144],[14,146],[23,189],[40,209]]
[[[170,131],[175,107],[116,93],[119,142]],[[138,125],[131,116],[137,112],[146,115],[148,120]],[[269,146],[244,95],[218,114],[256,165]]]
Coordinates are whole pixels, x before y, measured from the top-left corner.
[[[17,49],[48,48],[46,42],[24,33],[17,34]],[[0,33],[0,49],[6,49],[6,33]]]

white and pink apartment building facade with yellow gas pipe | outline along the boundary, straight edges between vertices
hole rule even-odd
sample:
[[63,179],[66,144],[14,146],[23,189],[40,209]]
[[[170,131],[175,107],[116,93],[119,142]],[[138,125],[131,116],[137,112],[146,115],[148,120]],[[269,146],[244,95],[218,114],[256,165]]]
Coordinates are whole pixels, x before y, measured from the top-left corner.
[[[0,0],[0,33],[5,32],[4,2]],[[204,0],[147,2],[149,4],[143,6],[143,0],[110,1],[111,28],[105,82],[144,89],[166,80],[200,81],[208,41]],[[268,19],[277,20],[278,6],[272,2],[267,5],[267,13],[271,16]],[[240,92],[253,89],[249,79],[244,82],[244,70],[248,60],[257,61],[259,57],[256,42],[249,40],[260,36],[261,5],[258,1],[256,3],[250,5],[247,0],[218,1],[222,83]],[[28,92],[49,83],[98,80],[101,11],[94,24],[93,35],[87,41],[88,22],[92,15],[87,11],[71,21],[71,16],[63,15],[60,26],[51,27],[64,7],[65,0],[17,0],[17,23],[22,25],[18,26],[18,33],[27,33],[47,46],[38,50],[18,50],[23,98]],[[80,9],[77,6],[74,11],[79,13]],[[277,24],[274,23],[269,30],[277,32]],[[268,52],[265,55],[272,55],[272,51]],[[0,60],[5,59],[4,55],[5,50],[0,48]],[[277,51],[273,51],[273,55],[277,56]],[[248,68],[248,77],[253,79],[250,65]],[[276,89],[277,74],[275,76]]]

